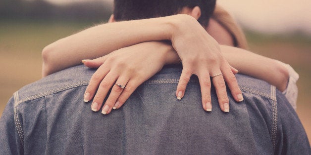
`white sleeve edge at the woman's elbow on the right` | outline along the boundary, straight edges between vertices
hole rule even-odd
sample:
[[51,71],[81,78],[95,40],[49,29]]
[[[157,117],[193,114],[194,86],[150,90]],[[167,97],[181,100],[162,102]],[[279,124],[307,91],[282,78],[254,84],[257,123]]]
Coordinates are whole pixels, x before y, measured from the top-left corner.
[[288,71],[289,74],[288,84],[286,89],[282,93],[284,94],[288,102],[292,105],[292,107],[296,110],[297,97],[298,97],[298,87],[296,82],[299,79],[299,75],[289,64],[285,64],[278,60],[275,61],[283,65]]

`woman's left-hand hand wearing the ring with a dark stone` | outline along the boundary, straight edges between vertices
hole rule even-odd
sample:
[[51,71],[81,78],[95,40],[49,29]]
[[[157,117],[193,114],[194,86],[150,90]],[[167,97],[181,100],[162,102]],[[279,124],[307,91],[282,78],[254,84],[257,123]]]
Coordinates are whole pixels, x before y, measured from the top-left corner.
[[[149,49],[157,51],[151,52]],[[91,108],[97,112],[112,87],[102,113],[106,115],[112,109],[120,108],[140,84],[162,69],[166,63],[167,52],[171,50],[172,47],[165,43],[143,42],[94,60],[83,60],[90,68],[100,66],[90,80],[84,101],[88,102],[94,97]],[[123,86],[125,87],[122,88]]]

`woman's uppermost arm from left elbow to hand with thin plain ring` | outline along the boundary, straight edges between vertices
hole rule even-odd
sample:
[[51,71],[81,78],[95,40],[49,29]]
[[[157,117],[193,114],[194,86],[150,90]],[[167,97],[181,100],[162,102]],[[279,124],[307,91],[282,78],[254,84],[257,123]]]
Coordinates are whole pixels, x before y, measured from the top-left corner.
[[[79,64],[82,59],[106,55],[113,50],[144,41],[166,39],[171,40],[183,63],[176,91],[178,99],[184,96],[187,83],[191,75],[195,74],[199,77],[202,102],[210,103],[209,76],[221,73],[223,76],[214,77],[212,80],[221,110],[229,111],[224,81],[227,82],[234,99],[243,100],[242,92],[230,65],[220,52],[219,44],[189,15],[103,24],[60,39],[43,51],[44,76],[55,72],[55,68],[61,70]],[[94,52],[94,57],[85,57],[84,52]]]

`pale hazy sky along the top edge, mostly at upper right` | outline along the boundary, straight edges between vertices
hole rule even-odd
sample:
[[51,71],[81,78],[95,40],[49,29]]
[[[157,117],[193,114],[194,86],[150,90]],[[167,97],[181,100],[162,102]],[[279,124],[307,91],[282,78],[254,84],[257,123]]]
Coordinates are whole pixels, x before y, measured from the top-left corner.
[[[68,3],[86,0],[48,0]],[[110,1],[112,4],[113,0]],[[261,32],[291,32],[311,35],[311,0],[217,0],[244,27]]]

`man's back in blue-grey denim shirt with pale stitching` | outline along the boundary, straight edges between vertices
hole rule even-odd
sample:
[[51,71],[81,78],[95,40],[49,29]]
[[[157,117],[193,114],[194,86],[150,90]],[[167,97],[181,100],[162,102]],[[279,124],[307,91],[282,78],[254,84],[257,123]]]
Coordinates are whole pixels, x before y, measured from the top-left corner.
[[83,94],[94,70],[73,67],[23,87],[0,120],[4,153],[25,154],[310,154],[305,131],[274,86],[237,75],[244,101],[231,96],[230,113],[201,105],[192,77],[181,101],[181,68],[166,67],[142,84],[118,110],[92,112]]

